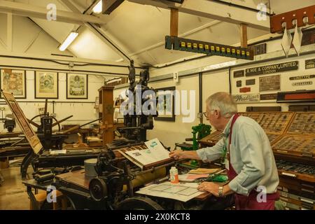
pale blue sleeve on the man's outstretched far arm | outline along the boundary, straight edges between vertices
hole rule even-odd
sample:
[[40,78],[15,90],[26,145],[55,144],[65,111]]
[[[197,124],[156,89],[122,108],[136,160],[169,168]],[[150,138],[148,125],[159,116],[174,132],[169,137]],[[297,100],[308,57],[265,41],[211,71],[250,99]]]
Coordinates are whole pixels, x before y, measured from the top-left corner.
[[197,155],[203,162],[211,162],[213,160],[218,160],[223,153],[224,142],[225,140],[222,138],[218,143],[212,147],[200,148],[198,149]]

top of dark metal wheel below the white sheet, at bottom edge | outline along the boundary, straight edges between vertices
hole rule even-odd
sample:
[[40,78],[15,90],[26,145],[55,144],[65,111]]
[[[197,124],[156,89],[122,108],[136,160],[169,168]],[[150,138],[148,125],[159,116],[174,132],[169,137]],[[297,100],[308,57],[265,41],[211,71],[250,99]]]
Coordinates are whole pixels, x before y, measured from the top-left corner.
[[160,204],[148,197],[130,197],[120,202],[118,210],[164,210]]

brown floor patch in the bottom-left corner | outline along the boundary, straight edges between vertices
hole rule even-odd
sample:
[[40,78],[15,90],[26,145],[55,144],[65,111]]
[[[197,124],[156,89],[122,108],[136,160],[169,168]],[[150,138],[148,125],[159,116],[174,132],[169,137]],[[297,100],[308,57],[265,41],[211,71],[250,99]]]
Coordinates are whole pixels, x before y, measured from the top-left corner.
[[0,210],[28,210],[29,198],[22,184],[20,167],[1,169],[0,172],[4,179],[0,183]]

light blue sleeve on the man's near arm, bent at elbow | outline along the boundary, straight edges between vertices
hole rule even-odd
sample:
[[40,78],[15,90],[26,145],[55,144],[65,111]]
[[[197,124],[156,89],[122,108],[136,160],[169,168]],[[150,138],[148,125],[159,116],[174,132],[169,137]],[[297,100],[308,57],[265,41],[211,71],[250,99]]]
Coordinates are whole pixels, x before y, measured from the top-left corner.
[[[230,181],[230,188],[238,194],[248,195],[265,174],[265,162],[262,153],[260,133],[251,125],[243,123],[237,129],[237,142],[235,143],[241,154],[244,166],[241,172]],[[230,151],[232,148],[230,148]]]

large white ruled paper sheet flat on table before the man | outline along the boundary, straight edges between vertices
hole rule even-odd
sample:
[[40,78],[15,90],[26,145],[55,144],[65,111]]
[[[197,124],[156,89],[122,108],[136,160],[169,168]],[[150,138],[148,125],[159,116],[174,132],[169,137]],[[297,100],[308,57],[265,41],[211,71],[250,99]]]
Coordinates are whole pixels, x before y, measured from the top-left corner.
[[141,195],[151,195],[155,197],[164,197],[181,202],[188,202],[194,197],[202,195],[203,192],[197,190],[198,183],[160,183],[141,188],[137,191]]

